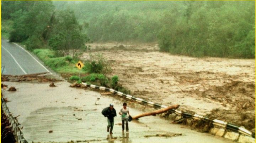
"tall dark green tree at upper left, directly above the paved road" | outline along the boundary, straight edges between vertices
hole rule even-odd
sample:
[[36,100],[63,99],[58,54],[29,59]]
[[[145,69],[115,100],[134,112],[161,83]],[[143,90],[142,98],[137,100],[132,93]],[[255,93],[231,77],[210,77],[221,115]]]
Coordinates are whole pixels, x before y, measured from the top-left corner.
[[[14,19],[14,30],[10,33],[10,41],[22,42],[29,39],[28,41],[31,42],[36,39],[43,43],[42,35],[47,29],[54,8],[52,1],[18,1],[16,7],[18,6],[23,9],[11,14]],[[30,44],[28,48],[38,48],[37,44]]]

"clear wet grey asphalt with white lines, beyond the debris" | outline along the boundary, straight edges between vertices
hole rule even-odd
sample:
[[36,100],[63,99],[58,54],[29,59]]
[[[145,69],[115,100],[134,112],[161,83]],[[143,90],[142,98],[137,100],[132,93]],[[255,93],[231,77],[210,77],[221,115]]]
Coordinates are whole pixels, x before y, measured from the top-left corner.
[[36,57],[21,46],[1,39],[2,74],[23,75],[49,72]]

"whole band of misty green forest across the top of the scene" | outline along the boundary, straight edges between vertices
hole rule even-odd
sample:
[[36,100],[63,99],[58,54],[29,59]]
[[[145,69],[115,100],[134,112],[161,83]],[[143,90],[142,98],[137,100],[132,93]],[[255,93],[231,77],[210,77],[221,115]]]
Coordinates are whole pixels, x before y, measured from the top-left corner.
[[160,51],[177,55],[255,58],[255,1],[1,1],[1,5],[2,20],[12,21],[9,39],[30,49],[47,45],[65,53],[84,42],[158,42]]

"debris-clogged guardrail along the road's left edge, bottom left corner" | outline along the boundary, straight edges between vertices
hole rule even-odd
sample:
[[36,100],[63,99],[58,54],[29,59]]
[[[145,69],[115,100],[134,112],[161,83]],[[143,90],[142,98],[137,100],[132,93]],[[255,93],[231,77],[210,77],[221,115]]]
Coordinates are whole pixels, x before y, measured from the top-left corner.
[[7,107],[5,101],[2,97],[1,97],[1,107],[2,107],[4,114],[7,116],[7,120],[9,120],[9,123],[11,124],[10,126],[12,128],[13,135],[16,139],[16,142],[17,143],[28,143],[23,136],[23,132],[20,129],[20,124],[14,118],[14,116],[10,112],[9,108]]

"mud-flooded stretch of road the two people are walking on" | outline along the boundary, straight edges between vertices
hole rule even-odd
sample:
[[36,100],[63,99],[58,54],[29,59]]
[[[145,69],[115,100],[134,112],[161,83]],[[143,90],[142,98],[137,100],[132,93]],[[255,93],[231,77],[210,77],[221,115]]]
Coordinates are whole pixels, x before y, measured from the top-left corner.
[[[197,142],[229,143],[222,137],[201,133],[185,125],[171,124],[170,120],[158,116],[147,116],[129,122],[129,133],[122,135],[121,117],[114,119],[113,135],[106,132],[107,119],[101,114],[103,108],[114,104],[117,112],[122,101],[109,95],[69,87],[68,82],[50,83],[3,82],[14,86],[17,91],[3,90],[7,106],[23,126],[28,142],[98,142],[98,143],[146,143],[146,142]],[[129,107],[129,104],[128,104]],[[143,113],[140,109],[129,108],[131,115]],[[49,133],[52,131],[52,133]],[[182,134],[174,137],[154,137],[156,134]],[[153,136],[153,137],[152,137]]]

